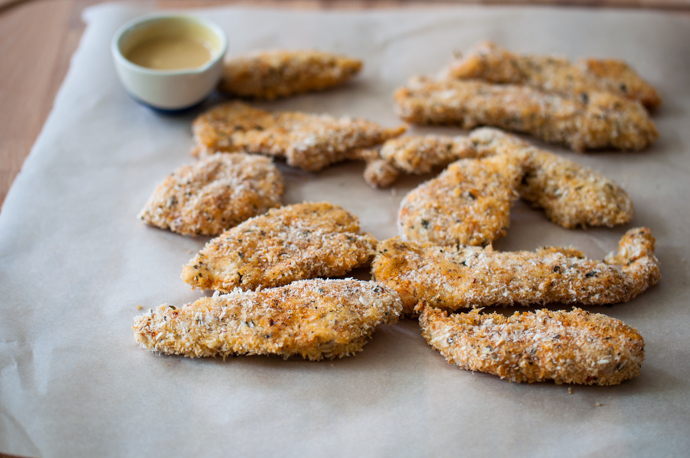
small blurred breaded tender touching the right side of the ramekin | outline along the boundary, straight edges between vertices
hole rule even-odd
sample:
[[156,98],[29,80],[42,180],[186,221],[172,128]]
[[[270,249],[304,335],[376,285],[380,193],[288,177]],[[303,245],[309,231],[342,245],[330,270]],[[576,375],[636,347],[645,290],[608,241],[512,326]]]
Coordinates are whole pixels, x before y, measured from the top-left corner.
[[274,100],[345,83],[362,61],[311,50],[271,50],[225,62],[218,89],[229,95]]

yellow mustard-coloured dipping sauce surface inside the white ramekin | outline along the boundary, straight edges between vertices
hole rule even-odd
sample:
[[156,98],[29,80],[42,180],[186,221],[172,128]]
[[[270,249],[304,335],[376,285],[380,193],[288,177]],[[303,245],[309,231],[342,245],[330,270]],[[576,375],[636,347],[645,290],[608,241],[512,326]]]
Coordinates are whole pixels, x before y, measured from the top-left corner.
[[159,37],[139,43],[125,57],[153,70],[181,70],[201,67],[213,55],[210,49],[192,38]]

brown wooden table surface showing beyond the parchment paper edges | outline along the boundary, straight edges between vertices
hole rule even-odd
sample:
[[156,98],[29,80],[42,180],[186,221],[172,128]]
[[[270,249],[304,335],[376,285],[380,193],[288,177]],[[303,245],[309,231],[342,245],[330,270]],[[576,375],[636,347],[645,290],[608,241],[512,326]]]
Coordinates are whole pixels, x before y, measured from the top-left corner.
[[[77,48],[82,11],[103,0],[0,0],[0,203],[29,154]],[[308,9],[438,7],[451,3],[558,4],[670,9],[690,13],[690,0],[145,0],[159,8],[251,5]],[[1,456],[1,455],[0,455]]]

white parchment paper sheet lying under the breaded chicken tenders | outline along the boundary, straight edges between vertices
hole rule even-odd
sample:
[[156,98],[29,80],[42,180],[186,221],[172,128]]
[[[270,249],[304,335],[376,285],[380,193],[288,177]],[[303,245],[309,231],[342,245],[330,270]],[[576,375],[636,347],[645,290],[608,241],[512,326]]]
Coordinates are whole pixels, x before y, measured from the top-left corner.
[[[449,365],[416,322],[382,327],[355,357],[226,361],[157,356],[132,318],[200,293],[180,279],[207,239],[142,225],[155,184],[192,162],[190,122],[133,102],[109,44],[149,12],[105,5],[88,28],[55,108],[0,214],[0,450],[27,456],[681,456],[690,447],[688,198],[690,20],[673,13],[556,8],[363,12],[199,10],[230,54],[306,47],[364,59],[346,87],[264,104],[393,126],[391,97],[481,39],[530,53],[619,57],[655,84],[660,139],[639,153],[550,147],[623,185],[628,227],[566,230],[518,203],[495,247],[574,245],[603,258],[629,227],[656,236],[661,283],[627,304],[590,307],[634,325],[642,373],[617,387],[515,384]],[[412,132],[461,133],[458,129]],[[395,235],[402,196],[430,176],[374,190],[363,166],[319,174],[281,165],[285,203],[329,200],[379,238]],[[595,405],[599,403],[600,406]]]

